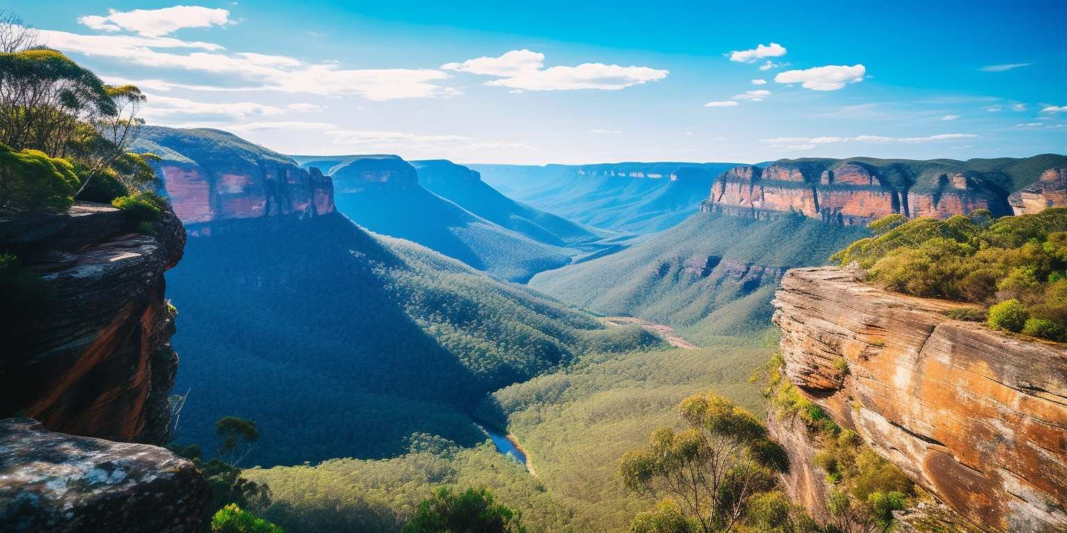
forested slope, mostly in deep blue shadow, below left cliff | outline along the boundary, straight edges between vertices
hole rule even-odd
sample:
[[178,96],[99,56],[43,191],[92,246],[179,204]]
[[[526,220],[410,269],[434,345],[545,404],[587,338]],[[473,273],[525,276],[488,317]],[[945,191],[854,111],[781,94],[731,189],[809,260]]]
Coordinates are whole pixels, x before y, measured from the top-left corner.
[[168,274],[178,440],[213,442],[221,415],[255,420],[244,465],[389,456],[418,433],[471,446],[485,435],[466,410],[487,392],[587,346],[659,342],[340,214],[256,224],[190,239]]

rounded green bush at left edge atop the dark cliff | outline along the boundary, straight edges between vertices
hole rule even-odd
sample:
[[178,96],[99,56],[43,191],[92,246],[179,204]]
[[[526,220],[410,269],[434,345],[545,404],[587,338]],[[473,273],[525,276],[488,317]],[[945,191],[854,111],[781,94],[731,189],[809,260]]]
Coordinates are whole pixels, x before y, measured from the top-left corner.
[[74,204],[79,182],[64,159],[0,144],[0,212],[62,211]]

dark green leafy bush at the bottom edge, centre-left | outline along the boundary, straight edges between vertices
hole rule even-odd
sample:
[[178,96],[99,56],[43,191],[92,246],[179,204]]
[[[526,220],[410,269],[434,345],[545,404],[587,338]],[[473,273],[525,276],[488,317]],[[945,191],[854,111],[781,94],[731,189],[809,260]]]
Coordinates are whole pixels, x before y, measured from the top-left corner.
[[456,492],[439,487],[418,504],[404,533],[526,533],[522,513],[494,503],[485,487]]

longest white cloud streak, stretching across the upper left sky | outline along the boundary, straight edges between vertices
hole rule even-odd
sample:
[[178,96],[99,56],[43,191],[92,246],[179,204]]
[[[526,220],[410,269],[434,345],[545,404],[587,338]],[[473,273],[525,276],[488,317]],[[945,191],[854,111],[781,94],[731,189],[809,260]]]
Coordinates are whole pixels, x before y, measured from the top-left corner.
[[[433,97],[455,93],[453,90],[435,83],[449,78],[448,74],[435,69],[344,69],[336,63],[305,63],[284,55],[248,52],[227,54],[219,45],[171,37],[78,35],[50,30],[42,30],[41,37],[47,46],[64,52],[110,59],[127,65],[217,76],[221,80],[220,85],[203,87],[211,91],[357,95],[369,100]],[[186,53],[163,52],[159,49],[178,49]],[[162,83],[157,86],[162,86]],[[172,83],[171,86],[202,88],[177,83]]]

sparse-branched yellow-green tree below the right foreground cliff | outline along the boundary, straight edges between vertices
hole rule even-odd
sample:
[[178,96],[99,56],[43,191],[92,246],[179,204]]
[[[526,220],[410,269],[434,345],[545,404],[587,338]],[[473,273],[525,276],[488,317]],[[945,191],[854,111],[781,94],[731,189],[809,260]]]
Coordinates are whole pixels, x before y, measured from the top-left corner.
[[695,394],[679,406],[688,426],[662,427],[649,446],[626,453],[620,473],[627,488],[668,495],[700,531],[729,531],[743,522],[750,500],[789,471],[785,451],[748,410],[718,394]]

